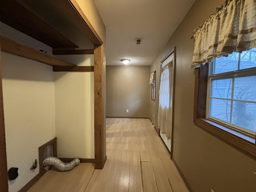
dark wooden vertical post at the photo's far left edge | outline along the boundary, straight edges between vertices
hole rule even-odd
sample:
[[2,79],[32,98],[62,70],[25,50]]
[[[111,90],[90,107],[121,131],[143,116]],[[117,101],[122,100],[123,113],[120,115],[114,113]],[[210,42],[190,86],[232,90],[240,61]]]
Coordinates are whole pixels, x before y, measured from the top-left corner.
[[[1,46],[1,43],[0,43]],[[4,102],[2,89],[2,70],[1,70],[1,55],[0,55],[0,191],[8,192],[8,177],[7,177],[7,157],[6,157],[6,142],[4,128]]]

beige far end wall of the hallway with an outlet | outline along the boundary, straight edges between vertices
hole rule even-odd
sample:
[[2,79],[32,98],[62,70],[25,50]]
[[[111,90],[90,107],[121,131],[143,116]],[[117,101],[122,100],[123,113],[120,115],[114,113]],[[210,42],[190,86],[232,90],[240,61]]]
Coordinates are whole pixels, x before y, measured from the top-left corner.
[[106,116],[149,117],[149,78],[150,66],[106,66]]

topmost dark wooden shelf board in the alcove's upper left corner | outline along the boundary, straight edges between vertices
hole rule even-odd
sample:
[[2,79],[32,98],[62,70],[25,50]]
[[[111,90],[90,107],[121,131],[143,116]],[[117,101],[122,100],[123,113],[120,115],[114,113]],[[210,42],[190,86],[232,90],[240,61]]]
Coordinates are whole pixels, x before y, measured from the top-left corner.
[[76,44],[60,34],[38,16],[27,10],[16,0],[1,0],[0,13],[1,22],[50,47],[78,48]]

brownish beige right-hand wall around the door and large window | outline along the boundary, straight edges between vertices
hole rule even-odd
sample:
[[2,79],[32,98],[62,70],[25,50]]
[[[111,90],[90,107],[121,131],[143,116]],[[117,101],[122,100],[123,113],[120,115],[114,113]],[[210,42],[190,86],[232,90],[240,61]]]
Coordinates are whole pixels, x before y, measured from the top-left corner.
[[[194,28],[203,24],[223,0],[196,0],[184,20],[151,66],[157,71],[159,89],[160,60],[177,46],[174,96],[173,158],[182,171],[191,192],[255,192],[256,160],[193,123],[194,49],[190,40]],[[157,114],[156,103],[150,102],[150,113]],[[154,118],[157,125],[157,119]]]

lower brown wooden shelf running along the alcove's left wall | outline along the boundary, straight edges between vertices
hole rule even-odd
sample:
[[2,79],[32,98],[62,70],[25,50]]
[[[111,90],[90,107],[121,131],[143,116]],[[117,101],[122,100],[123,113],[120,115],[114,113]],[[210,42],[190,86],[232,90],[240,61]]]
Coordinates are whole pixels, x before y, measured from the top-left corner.
[[27,59],[38,61],[50,66],[76,66],[72,63],[62,61],[54,56],[20,44],[6,37],[0,36],[1,50]]

